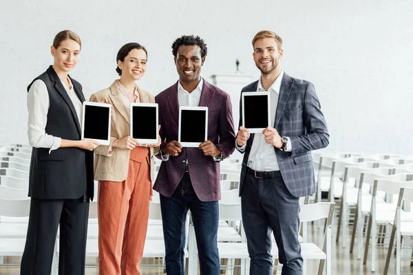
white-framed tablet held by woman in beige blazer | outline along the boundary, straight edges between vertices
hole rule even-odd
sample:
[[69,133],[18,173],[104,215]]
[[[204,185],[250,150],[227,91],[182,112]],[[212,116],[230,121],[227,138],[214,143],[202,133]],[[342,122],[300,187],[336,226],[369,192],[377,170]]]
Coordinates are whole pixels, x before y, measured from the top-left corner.
[[131,137],[140,144],[158,143],[158,104],[131,103]]

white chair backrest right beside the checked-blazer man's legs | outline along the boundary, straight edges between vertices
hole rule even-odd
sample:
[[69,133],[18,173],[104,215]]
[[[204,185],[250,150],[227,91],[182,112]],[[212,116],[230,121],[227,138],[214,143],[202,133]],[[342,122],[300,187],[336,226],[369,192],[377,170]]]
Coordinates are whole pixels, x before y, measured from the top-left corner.
[[327,225],[331,225],[334,206],[335,203],[330,202],[303,204],[300,206],[299,219],[301,222],[327,219]]

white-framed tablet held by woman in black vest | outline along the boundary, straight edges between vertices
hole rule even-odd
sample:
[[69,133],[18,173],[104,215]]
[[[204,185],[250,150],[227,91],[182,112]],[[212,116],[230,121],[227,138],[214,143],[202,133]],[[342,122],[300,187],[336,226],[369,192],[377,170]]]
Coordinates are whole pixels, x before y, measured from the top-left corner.
[[103,145],[110,143],[111,104],[83,102],[82,140],[88,138]]

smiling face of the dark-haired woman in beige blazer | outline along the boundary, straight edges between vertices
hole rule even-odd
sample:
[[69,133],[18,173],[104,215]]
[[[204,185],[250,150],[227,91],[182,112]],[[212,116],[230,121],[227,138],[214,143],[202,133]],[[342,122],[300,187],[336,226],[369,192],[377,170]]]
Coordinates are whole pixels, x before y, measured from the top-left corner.
[[121,78],[139,80],[145,74],[147,54],[142,49],[133,49],[123,61],[118,60],[118,67],[122,70]]

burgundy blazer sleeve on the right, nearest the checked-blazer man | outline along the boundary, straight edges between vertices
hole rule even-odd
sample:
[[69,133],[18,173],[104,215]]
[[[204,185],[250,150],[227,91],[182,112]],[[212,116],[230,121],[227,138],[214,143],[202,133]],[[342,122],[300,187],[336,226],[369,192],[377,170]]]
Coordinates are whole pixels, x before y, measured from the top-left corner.
[[231,97],[226,94],[218,121],[220,142],[215,144],[222,151],[222,159],[229,157],[235,150],[234,120],[232,115]]

